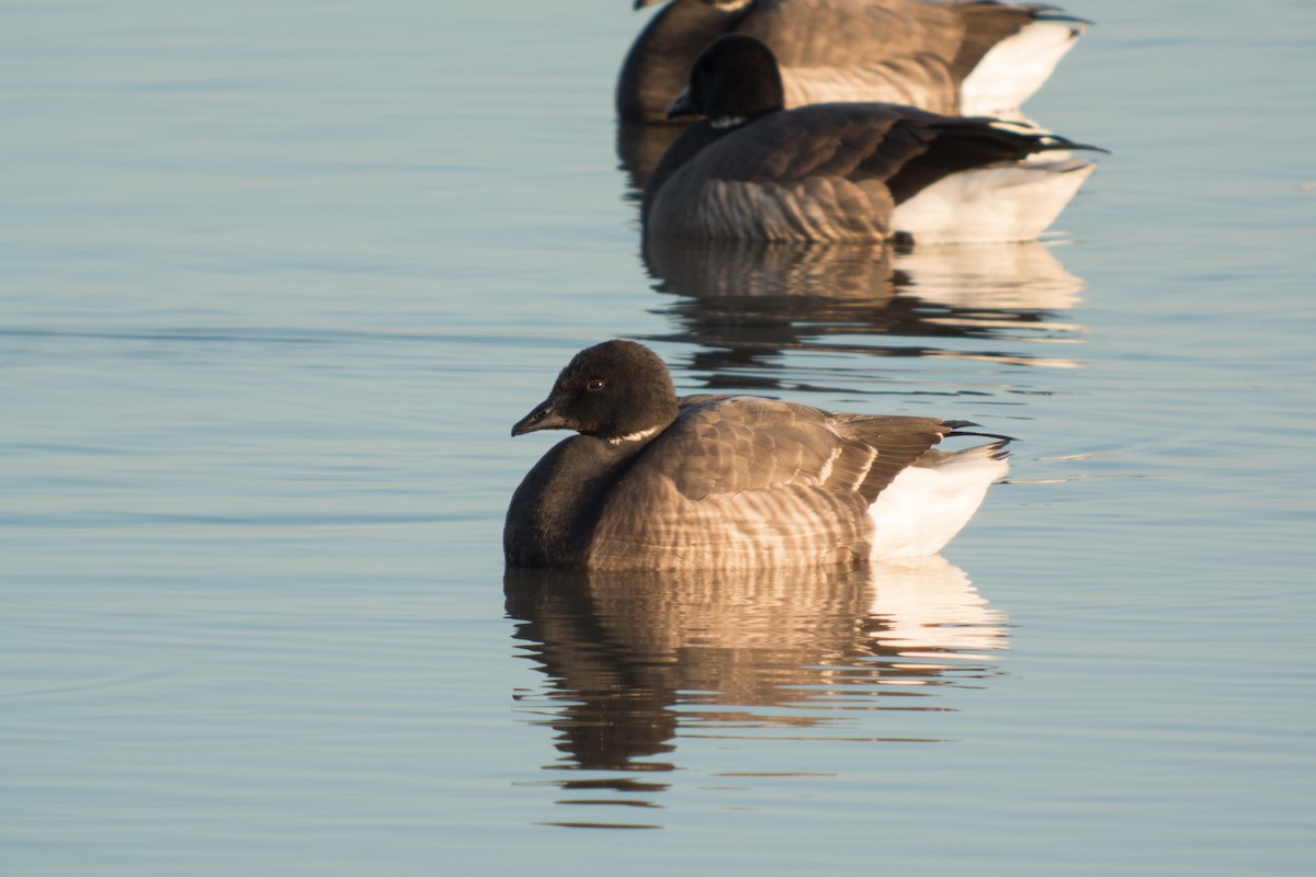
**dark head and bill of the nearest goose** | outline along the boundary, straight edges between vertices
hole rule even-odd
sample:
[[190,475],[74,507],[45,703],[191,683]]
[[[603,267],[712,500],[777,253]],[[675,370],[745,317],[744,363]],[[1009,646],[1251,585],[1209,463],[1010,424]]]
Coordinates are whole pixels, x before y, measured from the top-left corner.
[[676,419],[676,389],[655,352],[633,341],[605,341],[576,354],[553,392],[512,435],[575,430],[609,440],[647,437]]

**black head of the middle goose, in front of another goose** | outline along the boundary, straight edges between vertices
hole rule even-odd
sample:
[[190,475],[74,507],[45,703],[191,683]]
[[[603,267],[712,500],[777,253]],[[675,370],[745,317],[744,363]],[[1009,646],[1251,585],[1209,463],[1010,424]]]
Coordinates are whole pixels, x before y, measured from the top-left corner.
[[715,125],[782,109],[786,91],[772,50],[753,37],[728,34],[704,50],[690,70],[690,87],[667,118],[704,114]]

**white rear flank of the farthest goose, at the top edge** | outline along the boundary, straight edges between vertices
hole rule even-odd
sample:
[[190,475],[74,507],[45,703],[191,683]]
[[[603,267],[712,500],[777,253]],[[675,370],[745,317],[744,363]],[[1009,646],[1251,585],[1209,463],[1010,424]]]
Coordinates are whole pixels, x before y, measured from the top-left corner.
[[1023,105],[1082,33],[1082,22],[1042,20],[1000,41],[961,84],[959,112],[995,116]]

